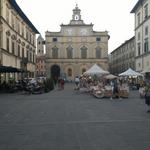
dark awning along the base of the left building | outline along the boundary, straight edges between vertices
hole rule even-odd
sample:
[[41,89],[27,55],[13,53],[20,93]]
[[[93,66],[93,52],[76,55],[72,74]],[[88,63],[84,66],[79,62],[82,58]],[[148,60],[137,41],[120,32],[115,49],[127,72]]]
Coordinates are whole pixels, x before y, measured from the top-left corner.
[[11,66],[0,66],[0,73],[19,73],[19,72],[24,72],[24,70]]

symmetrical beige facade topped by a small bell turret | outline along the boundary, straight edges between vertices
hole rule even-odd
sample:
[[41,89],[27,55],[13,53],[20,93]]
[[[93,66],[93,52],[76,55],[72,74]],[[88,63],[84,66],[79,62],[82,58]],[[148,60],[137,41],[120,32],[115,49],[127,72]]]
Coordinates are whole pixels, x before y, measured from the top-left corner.
[[80,12],[76,5],[69,24],[61,24],[59,32],[45,33],[47,77],[74,80],[95,63],[108,70],[108,32],[94,31]]

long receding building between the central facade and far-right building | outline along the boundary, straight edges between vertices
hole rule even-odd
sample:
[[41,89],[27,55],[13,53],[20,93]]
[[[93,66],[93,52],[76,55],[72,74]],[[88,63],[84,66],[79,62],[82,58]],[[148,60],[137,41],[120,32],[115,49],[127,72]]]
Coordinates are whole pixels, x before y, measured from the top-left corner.
[[135,70],[135,37],[125,41],[111,52],[110,72],[118,75],[128,68]]

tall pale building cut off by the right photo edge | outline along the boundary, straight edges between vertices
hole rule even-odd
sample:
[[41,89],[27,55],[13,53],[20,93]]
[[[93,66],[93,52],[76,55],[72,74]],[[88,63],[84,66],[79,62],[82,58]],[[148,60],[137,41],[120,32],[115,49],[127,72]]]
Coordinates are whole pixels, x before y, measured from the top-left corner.
[[135,14],[136,71],[150,69],[150,0],[138,0]]

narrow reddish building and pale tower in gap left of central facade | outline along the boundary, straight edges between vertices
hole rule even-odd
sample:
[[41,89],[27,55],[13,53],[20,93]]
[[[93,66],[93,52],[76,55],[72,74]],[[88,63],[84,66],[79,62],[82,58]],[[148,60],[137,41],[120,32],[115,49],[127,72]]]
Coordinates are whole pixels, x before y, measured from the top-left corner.
[[37,54],[36,54],[36,77],[46,76],[44,39],[41,35],[37,38]]

